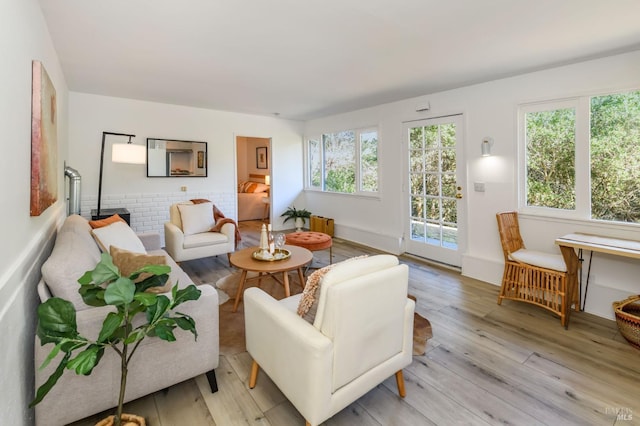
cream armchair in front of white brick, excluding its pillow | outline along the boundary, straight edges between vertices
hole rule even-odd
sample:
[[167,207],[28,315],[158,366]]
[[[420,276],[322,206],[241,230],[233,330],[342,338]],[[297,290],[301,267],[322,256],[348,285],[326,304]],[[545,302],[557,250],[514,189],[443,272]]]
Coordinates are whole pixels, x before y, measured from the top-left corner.
[[[172,204],[169,207],[169,222],[164,224],[164,239],[167,252],[176,262],[200,259],[202,257],[217,256],[233,253],[235,250],[235,226],[225,223],[220,232],[209,232],[210,227],[204,227],[202,232],[189,235],[183,231],[183,221],[178,205],[190,205],[190,201]],[[196,206],[196,205],[194,205]],[[204,206],[200,204],[199,206]],[[212,210],[209,207],[209,210]],[[213,213],[211,213],[213,221]]]

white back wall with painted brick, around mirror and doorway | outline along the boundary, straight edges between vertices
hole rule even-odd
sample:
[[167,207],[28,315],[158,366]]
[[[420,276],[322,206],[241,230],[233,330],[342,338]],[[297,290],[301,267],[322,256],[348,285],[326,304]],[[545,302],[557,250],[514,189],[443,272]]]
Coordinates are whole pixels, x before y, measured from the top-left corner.
[[[208,143],[208,177],[146,177],[146,166],[110,161],[110,147],[125,138],[110,136],[105,146],[102,207],[126,207],[136,231],[164,235],[168,205],[190,198],[211,199],[227,217],[237,218],[235,138],[272,138],[274,211],[284,211],[302,189],[302,123],[178,105],[71,92],[69,95],[69,165],[82,175],[82,215],[96,208],[102,132]],[[249,152],[251,149],[249,149]],[[255,149],[253,149],[255,153]],[[292,165],[294,165],[292,167]],[[181,192],[182,186],[187,187]],[[279,225],[274,224],[278,229]]]

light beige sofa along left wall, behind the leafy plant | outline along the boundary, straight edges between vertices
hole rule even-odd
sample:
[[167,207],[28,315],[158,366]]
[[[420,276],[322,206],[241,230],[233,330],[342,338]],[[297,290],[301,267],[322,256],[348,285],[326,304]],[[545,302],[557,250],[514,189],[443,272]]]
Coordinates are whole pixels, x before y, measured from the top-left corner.
[[[38,284],[41,301],[58,296],[71,301],[77,311],[78,330],[81,334],[96,337],[102,328],[105,307],[91,307],[82,301],[77,292],[77,280],[86,271],[93,270],[100,260],[100,249],[91,236],[91,227],[78,215],[68,217],[58,231],[50,257],[42,266],[42,280]],[[160,249],[160,235],[140,235],[148,254],[164,254]],[[193,284],[189,276],[169,257],[170,280],[180,287]],[[212,391],[215,391],[215,373],[219,358],[218,294],[209,285],[198,287],[202,294],[196,301],[180,306],[180,312],[196,321],[198,340],[188,331],[176,329],[177,341],[165,342],[147,337],[138,348],[129,367],[126,401],[164,389],[176,383],[207,373]],[[170,297],[170,295],[169,295]],[[47,368],[40,365],[53,345],[40,345],[35,338],[36,389],[51,375],[59,363],[55,358]],[[65,371],[58,383],[35,407],[36,425],[59,426],[115,407],[120,385],[120,358],[112,350],[106,350],[99,365],[89,376],[78,376]]]

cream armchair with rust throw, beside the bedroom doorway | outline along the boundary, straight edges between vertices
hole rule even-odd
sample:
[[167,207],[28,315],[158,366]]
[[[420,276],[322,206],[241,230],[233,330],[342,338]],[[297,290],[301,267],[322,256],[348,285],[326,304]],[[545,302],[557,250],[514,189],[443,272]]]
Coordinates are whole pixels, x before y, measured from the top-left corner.
[[[178,206],[182,206],[182,214]],[[183,220],[184,206],[190,206],[193,210],[206,209],[210,216],[208,218],[210,222],[207,223],[207,217],[202,217],[197,212],[186,216]],[[169,207],[169,222],[164,224],[167,252],[176,262],[225,253],[229,256],[235,250],[235,226],[232,223],[225,223],[220,232],[209,232],[214,224],[213,207],[210,203],[193,204],[187,201],[172,204]],[[193,230],[200,232],[193,232]]]

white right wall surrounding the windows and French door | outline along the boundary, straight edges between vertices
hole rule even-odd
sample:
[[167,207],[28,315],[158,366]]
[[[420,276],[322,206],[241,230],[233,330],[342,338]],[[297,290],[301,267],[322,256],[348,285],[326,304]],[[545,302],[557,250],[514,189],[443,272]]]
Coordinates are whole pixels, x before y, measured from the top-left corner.
[[[380,249],[399,253],[404,235],[402,123],[462,113],[465,120],[464,150],[467,181],[464,200],[468,213],[467,251],[462,273],[499,284],[503,260],[497,233],[496,212],[517,209],[517,105],[536,100],[640,88],[640,51],[559,67],[484,84],[434,93],[400,102],[305,123],[305,135],[377,125],[380,132],[380,197],[358,197],[306,191],[299,198],[316,214],[333,217],[336,234]],[[417,113],[430,102],[431,110]],[[495,140],[493,156],[480,157],[484,136]],[[486,184],[485,192],[473,192],[473,182]],[[375,232],[371,232],[375,230]],[[640,240],[638,226],[595,226],[590,223],[521,217],[521,230],[530,248],[553,250],[558,236],[574,231],[625,236]],[[620,266],[624,266],[621,268]],[[595,255],[586,310],[613,318],[611,302],[638,293],[640,262]],[[597,272],[596,272],[597,271]]]

